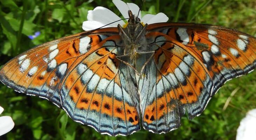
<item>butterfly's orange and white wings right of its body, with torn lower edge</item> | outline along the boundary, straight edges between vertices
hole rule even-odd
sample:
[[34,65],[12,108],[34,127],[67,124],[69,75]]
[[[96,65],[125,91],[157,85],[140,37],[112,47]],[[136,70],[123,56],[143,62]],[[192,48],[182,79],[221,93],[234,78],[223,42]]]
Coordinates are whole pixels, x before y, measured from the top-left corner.
[[154,133],[180,126],[205,109],[227,80],[256,66],[256,38],[224,27],[188,23],[149,25],[153,59],[139,82],[142,125]]

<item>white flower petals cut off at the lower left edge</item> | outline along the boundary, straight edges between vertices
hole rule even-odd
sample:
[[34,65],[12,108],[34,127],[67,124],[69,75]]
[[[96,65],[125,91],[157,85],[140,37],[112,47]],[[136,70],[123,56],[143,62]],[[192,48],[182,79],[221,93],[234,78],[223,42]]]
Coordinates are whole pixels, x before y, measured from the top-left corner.
[[[0,114],[4,109],[0,106]],[[0,117],[0,136],[12,130],[14,127],[14,122],[10,116]]]

